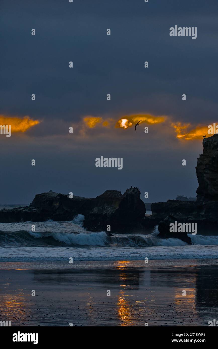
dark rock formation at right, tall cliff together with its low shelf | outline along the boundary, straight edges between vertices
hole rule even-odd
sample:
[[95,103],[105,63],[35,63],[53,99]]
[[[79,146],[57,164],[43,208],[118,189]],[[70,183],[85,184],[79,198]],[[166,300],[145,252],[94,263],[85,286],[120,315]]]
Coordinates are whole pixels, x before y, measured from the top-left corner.
[[[218,135],[203,140],[203,154],[197,161],[197,201],[157,202],[152,204],[152,217],[144,225],[157,223],[160,237],[169,237],[169,223],[197,223],[197,234],[218,235]],[[178,235],[181,233],[178,233]],[[181,237],[183,241],[186,237]]]

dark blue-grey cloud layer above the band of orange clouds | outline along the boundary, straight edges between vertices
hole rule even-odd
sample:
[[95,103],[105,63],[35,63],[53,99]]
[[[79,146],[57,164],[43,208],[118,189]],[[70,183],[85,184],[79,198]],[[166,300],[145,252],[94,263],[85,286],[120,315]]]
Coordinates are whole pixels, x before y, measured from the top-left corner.
[[[176,114],[179,106],[184,120],[204,121],[212,102],[215,117],[215,5],[3,1],[2,113],[78,120],[80,115],[120,110]],[[197,40],[169,37],[175,24],[197,27]],[[73,69],[68,67],[71,60]],[[185,104],[182,93],[187,94]]]

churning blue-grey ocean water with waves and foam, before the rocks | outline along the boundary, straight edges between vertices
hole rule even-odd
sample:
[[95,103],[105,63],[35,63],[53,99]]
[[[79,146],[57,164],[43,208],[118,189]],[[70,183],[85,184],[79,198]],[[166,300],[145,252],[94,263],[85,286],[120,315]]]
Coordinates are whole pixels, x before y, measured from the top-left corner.
[[218,259],[218,236],[189,235],[194,245],[160,239],[157,227],[149,235],[107,236],[85,230],[83,220],[0,223],[0,262]]

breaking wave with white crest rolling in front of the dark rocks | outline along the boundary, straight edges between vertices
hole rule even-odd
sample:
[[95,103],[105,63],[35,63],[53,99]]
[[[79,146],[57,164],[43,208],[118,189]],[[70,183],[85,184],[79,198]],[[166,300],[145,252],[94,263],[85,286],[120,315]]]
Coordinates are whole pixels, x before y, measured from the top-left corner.
[[[81,217],[80,217],[81,218]],[[158,230],[148,235],[117,234],[108,236],[105,232],[39,232],[19,230],[15,232],[0,231],[0,246],[27,247],[145,247],[145,246],[186,246],[180,239],[157,237]],[[218,245],[218,236],[189,235],[195,245]]]

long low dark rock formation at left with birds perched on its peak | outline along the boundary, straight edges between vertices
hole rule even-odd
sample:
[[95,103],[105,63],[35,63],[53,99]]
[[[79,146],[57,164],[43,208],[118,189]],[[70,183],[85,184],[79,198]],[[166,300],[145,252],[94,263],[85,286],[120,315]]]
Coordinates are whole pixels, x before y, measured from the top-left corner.
[[83,225],[90,231],[105,231],[110,225],[113,232],[132,232],[143,229],[140,222],[145,213],[137,188],[127,189],[123,195],[117,190],[107,190],[93,199],[80,196],[70,199],[69,195],[50,191],[36,194],[27,207],[0,210],[0,222],[68,221],[83,214]]

